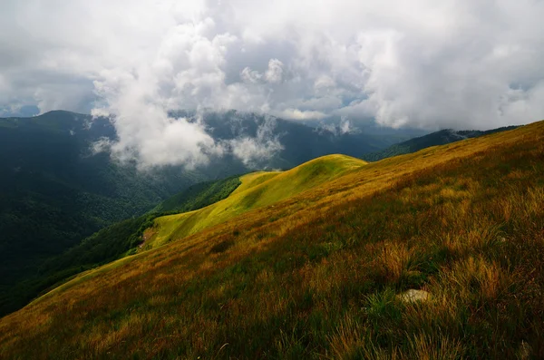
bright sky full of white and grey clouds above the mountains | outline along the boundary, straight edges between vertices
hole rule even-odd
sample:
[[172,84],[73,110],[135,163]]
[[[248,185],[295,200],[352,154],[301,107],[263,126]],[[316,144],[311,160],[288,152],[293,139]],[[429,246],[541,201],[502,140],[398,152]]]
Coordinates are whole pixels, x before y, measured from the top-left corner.
[[[1,0],[0,116],[112,114],[119,149],[148,137],[182,152],[221,150],[169,110],[430,130],[535,122],[542,18],[542,0]],[[179,137],[187,146],[170,149]]]

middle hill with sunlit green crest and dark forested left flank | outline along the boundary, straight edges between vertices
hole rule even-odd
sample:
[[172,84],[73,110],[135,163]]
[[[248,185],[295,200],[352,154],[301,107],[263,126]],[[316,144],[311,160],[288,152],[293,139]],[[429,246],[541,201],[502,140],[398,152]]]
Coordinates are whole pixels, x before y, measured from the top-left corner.
[[[141,248],[159,246],[174,236],[188,235],[249,209],[309,190],[363,164],[364,161],[333,155],[309,161],[284,173],[260,171],[192,185],[162,201],[150,212],[101,229],[63,254],[45,260],[35,274],[16,284],[13,292],[38,295],[39,292],[56,287],[82,271],[134,254]],[[281,175],[280,179],[272,184],[267,182],[277,175]],[[263,194],[266,197],[259,199]],[[221,201],[222,199],[225,200]],[[189,213],[164,216],[183,211]],[[144,235],[144,230],[150,227]],[[146,239],[144,244],[142,238]]]

